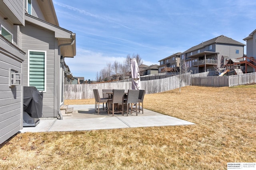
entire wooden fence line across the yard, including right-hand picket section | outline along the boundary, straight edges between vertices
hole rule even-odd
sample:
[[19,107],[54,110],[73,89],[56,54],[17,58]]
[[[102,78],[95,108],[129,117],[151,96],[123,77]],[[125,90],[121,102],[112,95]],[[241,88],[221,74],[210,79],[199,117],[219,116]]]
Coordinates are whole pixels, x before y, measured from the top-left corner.
[[[256,72],[232,75],[232,76],[208,76],[209,72],[200,74],[190,73],[181,74],[177,76],[141,81],[141,89],[145,90],[146,94],[164,92],[173,90],[180,87],[189,86],[239,86],[244,84],[256,83]],[[192,79],[191,79],[192,77]],[[98,84],[65,84],[64,85],[64,99],[76,100],[94,98],[93,89],[98,89],[102,92],[102,89],[124,89],[126,92],[131,89],[132,82],[108,82]],[[101,94],[102,96],[102,94]]]

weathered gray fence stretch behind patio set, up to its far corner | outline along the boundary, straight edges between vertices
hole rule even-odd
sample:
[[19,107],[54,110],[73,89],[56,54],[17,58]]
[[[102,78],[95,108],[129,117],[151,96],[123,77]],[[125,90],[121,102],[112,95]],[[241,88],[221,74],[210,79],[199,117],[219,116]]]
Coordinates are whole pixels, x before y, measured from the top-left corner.
[[[141,89],[145,90],[146,94],[164,92],[180,87],[189,86],[191,82],[190,73],[161,78],[155,80],[141,81]],[[88,99],[94,98],[93,89],[98,89],[102,97],[102,89],[124,89],[126,92],[131,89],[132,82],[108,82],[97,84],[65,84],[64,85],[64,100]]]

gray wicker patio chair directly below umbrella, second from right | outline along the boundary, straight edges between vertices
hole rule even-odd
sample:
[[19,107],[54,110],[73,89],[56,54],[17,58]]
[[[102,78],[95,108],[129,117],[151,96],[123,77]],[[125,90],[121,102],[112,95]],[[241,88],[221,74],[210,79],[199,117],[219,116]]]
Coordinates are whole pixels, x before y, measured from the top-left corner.
[[[128,90],[127,99],[124,100],[124,104],[126,104],[126,116],[130,112],[132,114],[132,105],[136,105],[136,116],[138,116],[138,100],[139,100],[139,90]],[[130,108],[131,106],[131,108]],[[124,113],[123,113],[124,115]]]

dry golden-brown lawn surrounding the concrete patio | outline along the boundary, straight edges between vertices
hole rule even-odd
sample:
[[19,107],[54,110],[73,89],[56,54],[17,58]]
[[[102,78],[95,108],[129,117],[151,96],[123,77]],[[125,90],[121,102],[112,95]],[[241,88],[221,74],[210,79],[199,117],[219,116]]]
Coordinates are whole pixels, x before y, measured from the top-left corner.
[[147,94],[144,108],[195,125],[17,134],[0,146],[0,170],[225,170],[227,162],[256,162],[255,102],[255,85]]

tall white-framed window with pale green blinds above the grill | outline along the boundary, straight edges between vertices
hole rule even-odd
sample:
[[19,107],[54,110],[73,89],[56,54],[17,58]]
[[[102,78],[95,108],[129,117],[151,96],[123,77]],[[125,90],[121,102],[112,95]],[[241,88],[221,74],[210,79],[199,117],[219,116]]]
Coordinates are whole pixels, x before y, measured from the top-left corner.
[[28,86],[46,92],[46,51],[28,50]]

